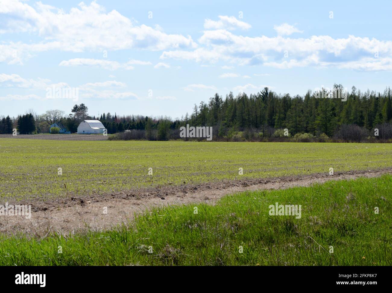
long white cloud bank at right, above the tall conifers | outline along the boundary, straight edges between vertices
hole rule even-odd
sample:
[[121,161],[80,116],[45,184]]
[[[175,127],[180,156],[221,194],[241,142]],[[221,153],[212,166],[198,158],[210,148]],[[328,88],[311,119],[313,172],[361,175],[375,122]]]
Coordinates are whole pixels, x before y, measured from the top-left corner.
[[[164,51],[161,59],[184,59],[201,63],[224,61],[238,65],[267,65],[275,68],[345,67],[358,70],[389,70],[387,59],[374,58],[375,52],[392,58],[392,41],[348,36],[285,38],[247,37],[224,29],[205,31],[196,50]],[[364,59],[365,58],[365,59]],[[366,60],[366,65],[360,63]]]

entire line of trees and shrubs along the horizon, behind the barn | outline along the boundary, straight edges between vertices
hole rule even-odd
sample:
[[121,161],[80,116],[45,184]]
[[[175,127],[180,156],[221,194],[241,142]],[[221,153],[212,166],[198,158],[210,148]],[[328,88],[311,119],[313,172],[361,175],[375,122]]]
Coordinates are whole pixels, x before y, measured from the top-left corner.
[[[191,115],[187,113],[185,117],[176,120],[141,115],[118,117],[116,113],[103,113],[96,117],[90,116],[87,106],[80,104],[75,105],[67,117],[60,110],[49,110],[39,117],[36,115],[35,131],[49,132],[51,123],[60,121],[69,131],[76,133],[82,120],[93,119],[100,120],[109,134],[131,131],[132,135],[129,131],[126,134],[131,139],[178,138],[179,128],[186,124],[212,126],[214,140],[224,141],[293,140],[300,135],[311,141],[392,138],[392,134],[389,134],[389,128],[392,127],[392,90],[389,87],[383,93],[370,90],[361,92],[355,86],[350,92],[345,92],[341,84],[335,84],[332,91],[336,90],[341,91],[342,98],[318,98],[323,95],[310,90],[303,96],[282,95],[269,88],[249,96],[246,93],[234,96],[230,92],[223,97],[216,93],[207,103],[202,101],[199,105],[195,104]],[[325,97],[328,96],[326,90],[321,91]],[[29,120],[24,116],[14,119],[13,125],[17,126],[19,132],[22,129],[24,133],[34,133],[32,127],[24,127],[25,123],[33,123],[31,117]],[[3,126],[4,119],[0,124],[2,133],[9,131],[8,126]],[[9,125],[9,122],[5,123]],[[379,135],[375,134],[375,128],[380,129]],[[289,135],[282,136],[283,129],[288,129]]]

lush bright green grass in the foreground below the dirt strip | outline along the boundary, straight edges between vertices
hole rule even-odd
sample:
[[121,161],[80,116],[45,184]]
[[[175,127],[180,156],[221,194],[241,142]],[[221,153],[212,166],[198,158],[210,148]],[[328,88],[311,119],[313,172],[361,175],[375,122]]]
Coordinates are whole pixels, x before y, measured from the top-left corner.
[[[390,175],[243,192],[107,232],[0,237],[0,265],[391,265],[391,194]],[[276,202],[302,205],[301,218],[269,216]]]

